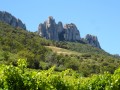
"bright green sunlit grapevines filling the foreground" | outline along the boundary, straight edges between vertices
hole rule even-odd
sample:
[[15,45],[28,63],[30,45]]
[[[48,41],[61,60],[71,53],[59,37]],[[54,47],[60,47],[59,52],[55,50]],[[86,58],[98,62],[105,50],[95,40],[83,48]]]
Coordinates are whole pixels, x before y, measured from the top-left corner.
[[28,69],[26,60],[17,67],[0,65],[0,90],[120,90],[120,68],[114,74],[82,77],[71,69],[62,72]]

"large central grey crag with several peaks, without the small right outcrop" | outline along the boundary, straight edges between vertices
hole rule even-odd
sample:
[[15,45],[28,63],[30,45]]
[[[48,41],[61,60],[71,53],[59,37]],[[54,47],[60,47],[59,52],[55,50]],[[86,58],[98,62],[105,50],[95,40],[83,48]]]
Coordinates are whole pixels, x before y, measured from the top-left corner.
[[38,34],[46,39],[55,41],[77,41],[80,40],[80,33],[75,24],[66,24],[63,27],[62,22],[56,24],[53,17],[49,17],[44,24],[39,24]]

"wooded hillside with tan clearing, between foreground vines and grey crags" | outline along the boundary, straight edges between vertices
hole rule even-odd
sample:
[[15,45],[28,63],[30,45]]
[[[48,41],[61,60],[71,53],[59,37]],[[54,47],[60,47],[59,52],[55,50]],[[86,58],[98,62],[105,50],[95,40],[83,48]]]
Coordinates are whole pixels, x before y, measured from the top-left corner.
[[120,58],[91,45],[46,40],[36,33],[0,22],[0,63],[16,66],[19,58],[27,60],[28,68],[46,70],[55,65],[56,71],[71,68],[84,76],[104,71],[113,73],[120,65]]

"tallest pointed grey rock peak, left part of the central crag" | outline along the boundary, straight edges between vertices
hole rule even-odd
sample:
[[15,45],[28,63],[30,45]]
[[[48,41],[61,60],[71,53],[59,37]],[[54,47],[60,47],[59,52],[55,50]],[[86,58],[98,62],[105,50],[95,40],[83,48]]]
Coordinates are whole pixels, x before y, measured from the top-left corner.
[[58,41],[56,26],[55,20],[50,16],[43,24],[39,24],[38,34],[46,39]]

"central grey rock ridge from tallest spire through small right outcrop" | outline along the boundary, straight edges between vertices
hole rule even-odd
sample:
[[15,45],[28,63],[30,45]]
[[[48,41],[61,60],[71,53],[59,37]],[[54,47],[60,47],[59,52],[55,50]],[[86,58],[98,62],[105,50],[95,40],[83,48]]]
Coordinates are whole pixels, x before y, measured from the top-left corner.
[[37,33],[46,39],[55,41],[80,41],[101,49],[96,36],[87,34],[85,38],[81,38],[75,24],[63,25],[62,22],[56,24],[52,16],[48,17],[44,23],[39,24]]

